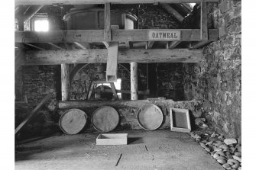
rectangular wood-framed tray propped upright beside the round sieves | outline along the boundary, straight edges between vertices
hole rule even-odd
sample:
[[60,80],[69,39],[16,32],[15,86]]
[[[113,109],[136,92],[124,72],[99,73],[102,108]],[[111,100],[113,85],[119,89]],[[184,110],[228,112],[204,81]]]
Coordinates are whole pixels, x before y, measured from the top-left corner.
[[170,108],[170,130],[190,133],[190,114],[187,109]]

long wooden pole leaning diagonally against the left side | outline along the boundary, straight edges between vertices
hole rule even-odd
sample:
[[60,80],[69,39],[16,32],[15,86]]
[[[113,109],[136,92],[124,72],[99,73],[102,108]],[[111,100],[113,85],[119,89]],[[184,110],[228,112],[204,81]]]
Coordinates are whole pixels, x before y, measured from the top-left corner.
[[24,127],[24,125],[31,120],[31,117],[33,117],[34,114],[37,113],[37,111],[50,99],[51,95],[52,94],[49,93],[39,104],[37,104],[36,107],[34,107],[33,111],[31,111],[28,117],[26,117],[26,119],[20,125],[18,125],[18,127],[16,127],[15,134],[17,134]]

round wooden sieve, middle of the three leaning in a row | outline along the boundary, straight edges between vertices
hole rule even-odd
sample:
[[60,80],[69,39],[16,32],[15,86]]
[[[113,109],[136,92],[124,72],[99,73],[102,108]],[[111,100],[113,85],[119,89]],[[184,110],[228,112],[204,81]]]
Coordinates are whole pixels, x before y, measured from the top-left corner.
[[92,114],[92,125],[96,130],[101,132],[114,130],[118,122],[118,112],[115,111],[115,108],[110,106],[99,107]]

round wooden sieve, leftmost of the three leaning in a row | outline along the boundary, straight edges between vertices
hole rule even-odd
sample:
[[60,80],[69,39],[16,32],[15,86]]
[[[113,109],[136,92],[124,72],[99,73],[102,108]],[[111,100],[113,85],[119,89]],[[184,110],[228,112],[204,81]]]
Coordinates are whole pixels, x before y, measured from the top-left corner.
[[74,135],[83,130],[86,126],[87,114],[84,111],[73,108],[65,111],[59,120],[60,129],[70,135]]

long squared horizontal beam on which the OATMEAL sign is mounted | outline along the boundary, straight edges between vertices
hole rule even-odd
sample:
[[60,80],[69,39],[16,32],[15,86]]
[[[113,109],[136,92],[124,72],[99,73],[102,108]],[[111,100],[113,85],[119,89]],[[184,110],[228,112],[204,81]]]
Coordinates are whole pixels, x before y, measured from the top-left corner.
[[[180,30],[180,41],[200,41],[200,29]],[[218,30],[209,29],[209,40],[218,40]],[[102,42],[104,30],[15,31],[15,43]],[[112,30],[112,41],[149,41],[148,30]],[[166,41],[166,40],[165,40]]]

